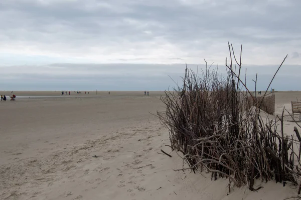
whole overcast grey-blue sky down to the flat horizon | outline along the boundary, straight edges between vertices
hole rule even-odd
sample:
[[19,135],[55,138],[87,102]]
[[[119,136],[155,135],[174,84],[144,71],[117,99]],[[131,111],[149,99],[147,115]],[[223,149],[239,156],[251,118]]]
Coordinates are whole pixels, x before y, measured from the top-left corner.
[[[165,90],[185,63],[301,90],[298,0],[1,0],[0,90]],[[171,79],[170,76],[173,78]],[[173,81],[174,80],[174,81]]]

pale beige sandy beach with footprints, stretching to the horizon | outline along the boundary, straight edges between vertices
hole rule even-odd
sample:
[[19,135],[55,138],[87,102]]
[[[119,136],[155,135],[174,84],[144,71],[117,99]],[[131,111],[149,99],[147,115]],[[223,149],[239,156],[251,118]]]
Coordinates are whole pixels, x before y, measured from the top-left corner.
[[[284,199],[297,193],[294,185],[257,181],[258,192],[233,187],[227,195],[227,179],[174,171],[182,159],[165,146],[168,130],[149,113],[164,110],[163,92],[14,93],[52,98],[0,102],[0,199]],[[276,114],[296,98],[301,92],[276,92]],[[285,121],[285,133],[293,134],[293,126]]]

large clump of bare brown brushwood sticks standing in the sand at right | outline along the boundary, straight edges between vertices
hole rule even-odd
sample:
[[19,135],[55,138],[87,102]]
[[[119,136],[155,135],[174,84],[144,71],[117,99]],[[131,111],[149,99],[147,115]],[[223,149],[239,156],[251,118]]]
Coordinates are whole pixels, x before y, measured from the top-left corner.
[[[183,153],[183,170],[205,169],[212,173],[214,180],[227,177],[236,186],[249,184],[250,190],[255,190],[255,179],[275,178],[283,185],[286,182],[297,184],[301,168],[300,163],[294,163],[294,156],[299,161],[301,154],[297,128],[294,131],[298,140],[284,135],[284,109],[275,120],[264,121],[258,108],[262,101],[253,107],[243,106],[248,103],[247,98],[257,99],[257,75],[253,96],[240,77],[241,55],[237,60],[230,44],[229,52],[226,77],[211,70],[205,60],[206,69],[201,74],[186,67],[183,86],[161,96],[166,110],[157,115],[169,129],[172,150]],[[267,90],[262,98],[268,95]],[[281,123],[280,132],[277,123]],[[300,146],[299,156],[294,145]],[[184,162],[189,167],[185,167]]]

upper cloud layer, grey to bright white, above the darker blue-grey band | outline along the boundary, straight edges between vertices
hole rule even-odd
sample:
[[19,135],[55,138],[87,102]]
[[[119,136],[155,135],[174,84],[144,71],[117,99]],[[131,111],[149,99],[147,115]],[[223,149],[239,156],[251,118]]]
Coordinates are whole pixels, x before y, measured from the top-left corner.
[[4,64],[224,63],[227,40],[243,63],[298,64],[297,0],[2,0]]

